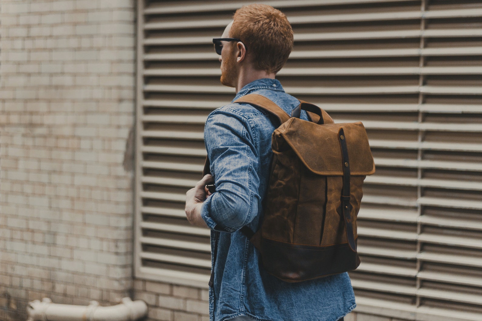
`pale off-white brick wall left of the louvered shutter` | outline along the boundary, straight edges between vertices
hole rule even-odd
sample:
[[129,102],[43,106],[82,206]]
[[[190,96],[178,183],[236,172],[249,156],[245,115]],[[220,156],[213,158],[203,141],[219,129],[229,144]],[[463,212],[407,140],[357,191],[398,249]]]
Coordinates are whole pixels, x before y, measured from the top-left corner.
[[1,0],[2,321],[44,296],[109,305],[133,287],[134,7]]

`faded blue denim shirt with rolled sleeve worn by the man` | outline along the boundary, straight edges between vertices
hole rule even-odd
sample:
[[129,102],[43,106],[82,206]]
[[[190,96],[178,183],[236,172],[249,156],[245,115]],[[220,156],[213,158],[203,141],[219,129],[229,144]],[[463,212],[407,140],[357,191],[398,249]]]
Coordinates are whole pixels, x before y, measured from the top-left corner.
[[[252,93],[271,99],[290,115],[299,104],[273,79],[254,80],[233,101]],[[304,111],[301,118],[308,120]],[[239,230],[245,225],[253,231],[260,228],[272,158],[271,134],[279,125],[264,110],[233,103],[214,110],[206,121],[204,142],[216,184],[216,192],[201,208],[211,228],[211,321],[244,315],[258,321],[336,321],[356,307],[348,273],[281,281],[258,264],[258,250]]]

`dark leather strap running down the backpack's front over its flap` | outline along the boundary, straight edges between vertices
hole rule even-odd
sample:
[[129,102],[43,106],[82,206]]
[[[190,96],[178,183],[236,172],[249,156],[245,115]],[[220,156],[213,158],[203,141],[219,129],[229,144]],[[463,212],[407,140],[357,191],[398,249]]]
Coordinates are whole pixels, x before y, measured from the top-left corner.
[[343,189],[341,193],[341,212],[343,213],[343,220],[345,221],[345,229],[347,231],[347,240],[350,249],[355,252],[357,244],[355,243],[353,233],[353,223],[350,216],[352,206],[350,204],[350,162],[348,160],[347,138],[343,128],[338,131],[338,140],[341,147],[342,166],[343,166]]

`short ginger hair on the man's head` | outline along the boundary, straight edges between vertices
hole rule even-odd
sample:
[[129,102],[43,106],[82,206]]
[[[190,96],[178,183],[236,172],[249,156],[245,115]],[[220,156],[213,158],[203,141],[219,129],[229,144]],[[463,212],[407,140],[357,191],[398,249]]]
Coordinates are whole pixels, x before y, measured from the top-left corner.
[[293,50],[293,29],[286,15],[266,4],[236,10],[230,37],[241,39],[253,55],[255,67],[277,73]]

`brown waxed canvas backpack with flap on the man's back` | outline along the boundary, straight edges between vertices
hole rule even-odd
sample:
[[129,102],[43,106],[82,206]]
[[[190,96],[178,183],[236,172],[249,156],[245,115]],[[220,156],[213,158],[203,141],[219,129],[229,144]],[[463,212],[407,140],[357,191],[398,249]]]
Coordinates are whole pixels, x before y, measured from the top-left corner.
[[[271,138],[273,160],[261,228],[255,233],[241,228],[260,251],[263,267],[287,282],[356,269],[362,185],[366,175],[375,173],[362,122],[335,124],[324,110],[304,101],[290,117],[258,94],[235,103],[266,110],[281,123]],[[311,121],[299,118],[302,109]]]

